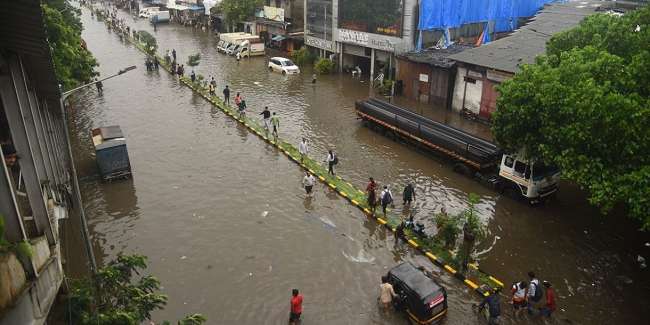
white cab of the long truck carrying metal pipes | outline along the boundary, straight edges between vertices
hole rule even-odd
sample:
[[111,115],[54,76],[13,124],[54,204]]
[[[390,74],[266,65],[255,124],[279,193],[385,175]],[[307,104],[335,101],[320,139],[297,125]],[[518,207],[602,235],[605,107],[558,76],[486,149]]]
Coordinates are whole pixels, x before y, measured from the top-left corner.
[[501,192],[530,203],[549,200],[558,190],[559,168],[543,161],[526,162],[518,155],[503,155],[499,168]]

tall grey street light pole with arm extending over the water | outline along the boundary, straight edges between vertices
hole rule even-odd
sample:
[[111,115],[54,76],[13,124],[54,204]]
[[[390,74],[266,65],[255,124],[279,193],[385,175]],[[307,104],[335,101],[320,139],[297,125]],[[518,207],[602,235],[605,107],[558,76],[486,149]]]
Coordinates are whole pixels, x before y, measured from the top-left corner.
[[66,98],[68,98],[68,96],[72,95],[73,92],[76,92],[77,90],[81,90],[88,86],[95,85],[100,81],[105,81],[112,77],[117,77],[118,75],[122,75],[122,73],[127,73],[131,70],[134,70],[135,68],[137,67],[129,66],[129,68],[120,70],[120,72],[115,73],[114,75],[109,75],[109,77],[105,77],[98,81],[93,81],[92,83],[87,83],[86,85],[74,88],[72,90],[68,90],[67,92],[62,92],[61,98],[59,99],[59,104],[61,105],[61,116],[63,120],[63,129],[66,138],[66,145],[68,146],[68,159],[70,159],[70,168],[72,169],[72,182],[74,185],[75,194],[77,196],[77,209],[79,209],[79,218],[81,219],[81,228],[83,229],[83,239],[86,242],[86,252],[88,252],[88,263],[90,263],[90,267],[92,268],[93,274],[97,274],[97,263],[95,261],[95,253],[92,251],[92,243],[90,242],[90,233],[88,233],[88,224],[86,223],[86,213],[83,210],[83,201],[81,201],[81,190],[79,189],[79,179],[77,179],[77,169],[75,168],[75,161],[72,157],[72,146],[70,145],[70,135],[68,134],[68,120],[66,120],[66,107],[64,105],[64,101],[66,100]]

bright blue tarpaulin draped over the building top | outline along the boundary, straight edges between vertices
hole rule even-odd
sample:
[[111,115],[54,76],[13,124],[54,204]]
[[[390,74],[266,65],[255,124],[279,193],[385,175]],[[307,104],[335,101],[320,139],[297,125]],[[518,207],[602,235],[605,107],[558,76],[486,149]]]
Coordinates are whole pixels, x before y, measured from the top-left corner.
[[564,1],[567,0],[422,0],[417,29],[435,31],[495,21],[495,32],[512,31],[517,27],[514,18],[535,16],[543,5]]

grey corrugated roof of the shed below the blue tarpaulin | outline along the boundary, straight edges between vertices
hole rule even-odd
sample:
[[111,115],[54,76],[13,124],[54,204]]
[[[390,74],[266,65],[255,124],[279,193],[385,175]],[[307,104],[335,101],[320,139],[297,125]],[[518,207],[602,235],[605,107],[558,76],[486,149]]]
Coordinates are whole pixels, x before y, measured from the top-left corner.
[[510,36],[450,55],[449,59],[503,72],[518,72],[519,64],[532,63],[536,55],[546,53],[546,40],[552,34],[577,26],[580,19],[603,12],[609,5],[612,3],[584,0],[545,5],[537,16]]

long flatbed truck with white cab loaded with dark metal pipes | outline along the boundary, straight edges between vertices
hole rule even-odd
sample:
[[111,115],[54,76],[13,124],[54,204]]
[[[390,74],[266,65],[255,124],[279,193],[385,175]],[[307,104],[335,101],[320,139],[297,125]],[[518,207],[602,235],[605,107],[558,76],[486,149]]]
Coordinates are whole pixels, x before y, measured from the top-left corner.
[[448,159],[452,170],[517,200],[540,203],[558,190],[560,170],[544,162],[506,155],[489,142],[381,99],[357,101],[354,112],[364,127],[433,155]]

